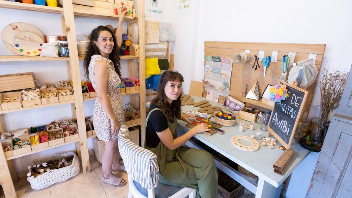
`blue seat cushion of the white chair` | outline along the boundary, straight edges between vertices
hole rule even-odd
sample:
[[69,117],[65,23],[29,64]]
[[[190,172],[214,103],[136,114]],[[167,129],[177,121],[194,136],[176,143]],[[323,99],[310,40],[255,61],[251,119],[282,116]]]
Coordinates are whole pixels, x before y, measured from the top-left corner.
[[[137,190],[143,194],[145,197],[148,197],[148,190],[143,188],[137,181],[133,180],[134,186],[136,186]],[[156,188],[154,188],[155,198],[167,198],[176,192],[180,191],[182,186],[170,186],[166,184],[159,183]]]

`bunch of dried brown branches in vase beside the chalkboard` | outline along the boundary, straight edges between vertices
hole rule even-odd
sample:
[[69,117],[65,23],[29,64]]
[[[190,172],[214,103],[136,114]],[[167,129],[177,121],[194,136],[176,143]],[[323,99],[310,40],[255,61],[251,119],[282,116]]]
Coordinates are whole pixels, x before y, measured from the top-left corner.
[[322,75],[322,79],[319,81],[320,109],[321,118],[327,121],[329,113],[337,109],[340,104],[348,73],[345,73],[345,70],[343,73],[334,70],[329,73],[328,67],[326,68],[324,65]]

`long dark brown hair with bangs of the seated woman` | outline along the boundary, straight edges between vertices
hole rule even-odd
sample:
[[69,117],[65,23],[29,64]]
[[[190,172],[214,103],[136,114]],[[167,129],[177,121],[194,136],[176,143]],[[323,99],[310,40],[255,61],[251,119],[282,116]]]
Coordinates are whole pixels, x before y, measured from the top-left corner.
[[166,83],[168,83],[169,81],[180,81],[182,83],[183,76],[178,72],[166,70],[161,75],[157,97],[152,100],[151,104],[158,105],[159,108],[164,112],[166,118],[168,118],[169,122],[174,123],[176,121],[174,119],[175,115],[177,119],[181,119],[181,101],[183,93],[181,92],[177,100],[173,100],[170,105],[166,100],[167,96],[164,91]]

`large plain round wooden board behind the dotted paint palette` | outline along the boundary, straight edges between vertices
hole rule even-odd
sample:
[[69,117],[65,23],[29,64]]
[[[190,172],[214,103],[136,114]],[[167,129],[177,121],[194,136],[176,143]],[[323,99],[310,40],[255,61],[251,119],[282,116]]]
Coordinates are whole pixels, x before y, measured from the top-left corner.
[[18,55],[21,55],[21,54],[14,49],[12,45],[13,38],[15,37],[15,35],[23,31],[36,33],[44,41],[44,36],[42,35],[42,33],[31,24],[22,23],[22,22],[8,24],[1,32],[1,40],[7,49],[9,49],[10,51]]

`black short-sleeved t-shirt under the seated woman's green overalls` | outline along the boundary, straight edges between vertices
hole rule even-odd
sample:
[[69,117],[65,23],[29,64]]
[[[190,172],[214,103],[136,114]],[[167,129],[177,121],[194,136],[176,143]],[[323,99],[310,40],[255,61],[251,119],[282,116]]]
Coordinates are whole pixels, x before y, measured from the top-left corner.
[[[158,105],[150,105],[149,112],[155,108],[159,108]],[[149,148],[156,148],[160,143],[160,138],[158,137],[157,133],[162,132],[167,128],[169,128],[168,119],[164,113],[159,110],[153,111],[149,116],[147,129],[145,131],[146,146]]]

